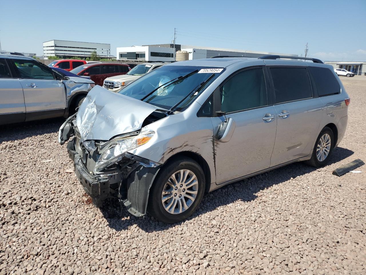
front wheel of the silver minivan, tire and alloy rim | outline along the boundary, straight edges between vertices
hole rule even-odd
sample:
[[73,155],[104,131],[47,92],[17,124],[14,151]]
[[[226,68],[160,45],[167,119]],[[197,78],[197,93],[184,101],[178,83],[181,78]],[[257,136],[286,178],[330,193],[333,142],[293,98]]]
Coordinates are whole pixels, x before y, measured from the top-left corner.
[[164,223],[191,216],[205,192],[205,174],[191,158],[179,158],[164,166],[150,189],[148,211]]

